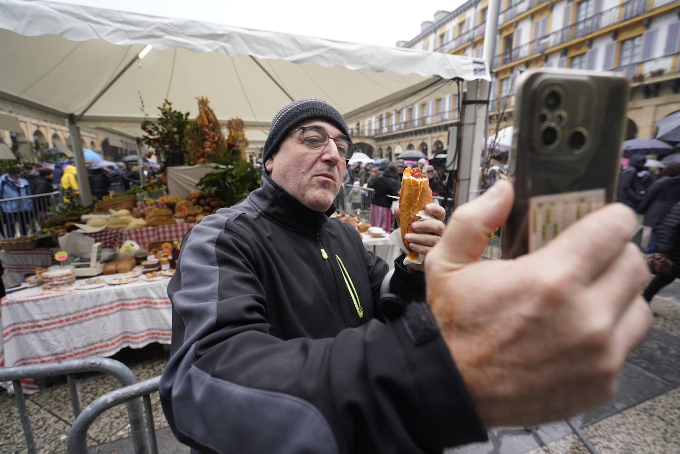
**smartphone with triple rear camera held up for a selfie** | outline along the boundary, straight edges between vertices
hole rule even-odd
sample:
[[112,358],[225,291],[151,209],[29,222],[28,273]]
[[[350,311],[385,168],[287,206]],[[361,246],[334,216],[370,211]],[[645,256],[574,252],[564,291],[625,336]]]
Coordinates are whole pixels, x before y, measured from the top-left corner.
[[509,156],[515,202],[503,258],[538,249],[615,201],[628,89],[613,73],[537,68],[520,75]]

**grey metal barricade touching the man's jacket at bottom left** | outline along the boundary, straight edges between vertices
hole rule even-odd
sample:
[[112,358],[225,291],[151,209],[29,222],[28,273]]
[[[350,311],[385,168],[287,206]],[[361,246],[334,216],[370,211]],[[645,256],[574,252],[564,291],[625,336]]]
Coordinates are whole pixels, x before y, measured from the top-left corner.
[[[144,412],[146,413],[146,428],[148,430],[148,441],[150,453],[158,454],[158,442],[156,441],[156,430],[154,429],[154,413],[151,408],[150,394],[158,391],[160,375],[140,381],[134,385],[129,385],[120,389],[115,389],[97,398],[85,408],[73,421],[69,436],[66,440],[69,454],[87,454],[87,430],[90,425],[109,408],[116,405],[134,401],[141,397],[144,402]],[[135,451],[139,453],[141,451]]]

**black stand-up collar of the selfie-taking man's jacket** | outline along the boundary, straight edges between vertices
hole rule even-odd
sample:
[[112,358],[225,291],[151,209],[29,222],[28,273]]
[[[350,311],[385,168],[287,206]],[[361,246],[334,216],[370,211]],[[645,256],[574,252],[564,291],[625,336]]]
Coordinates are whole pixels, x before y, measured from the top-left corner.
[[305,207],[267,173],[262,173],[262,186],[251,192],[248,200],[277,224],[313,237],[323,234],[328,217],[335,211],[334,205],[326,213]]

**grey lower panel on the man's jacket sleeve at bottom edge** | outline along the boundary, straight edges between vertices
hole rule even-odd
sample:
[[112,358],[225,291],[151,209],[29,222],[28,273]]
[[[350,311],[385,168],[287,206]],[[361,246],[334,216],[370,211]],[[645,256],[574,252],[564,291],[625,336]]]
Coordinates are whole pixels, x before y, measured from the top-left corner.
[[[175,385],[173,402],[188,410],[175,412],[177,425],[191,432],[186,435],[219,453],[338,452],[320,411],[289,394],[237,385],[193,366]],[[228,422],[224,430],[210,430],[219,420]],[[254,436],[253,427],[262,430]]]

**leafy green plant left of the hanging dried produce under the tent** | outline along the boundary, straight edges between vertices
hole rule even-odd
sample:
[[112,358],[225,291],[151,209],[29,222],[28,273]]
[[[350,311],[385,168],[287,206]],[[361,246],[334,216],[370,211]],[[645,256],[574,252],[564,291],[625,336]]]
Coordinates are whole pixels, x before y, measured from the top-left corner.
[[[184,129],[189,123],[189,113],[182,113],[172,108],[172,103],[167,99],[163,100],[163,105],[158,107],[160,118],[150,120],[144,111],[144,102],[141,101],[141,111],[146,120],[141,122],[141,129],[146,133],[141,136],[141,143],[151,147],[156,155],[163,162],[164,167],[174,164],[184,164],[184,151],[182,143],[184,141]],[[181,156],[182,159],[178,159]],[[181,162],[179,162],[181,161]]]

